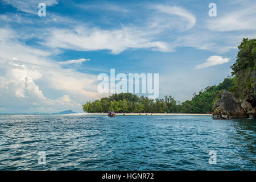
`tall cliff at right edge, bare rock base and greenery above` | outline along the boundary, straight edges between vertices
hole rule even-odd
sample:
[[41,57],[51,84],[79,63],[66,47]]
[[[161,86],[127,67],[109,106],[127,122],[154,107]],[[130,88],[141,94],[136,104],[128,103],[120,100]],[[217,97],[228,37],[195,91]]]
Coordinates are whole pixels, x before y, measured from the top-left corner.
[[233,87],[222,92],[214,104],[214,113],[230,118],[256,118],[256,39],[243,39],[237,60],[232,65]]

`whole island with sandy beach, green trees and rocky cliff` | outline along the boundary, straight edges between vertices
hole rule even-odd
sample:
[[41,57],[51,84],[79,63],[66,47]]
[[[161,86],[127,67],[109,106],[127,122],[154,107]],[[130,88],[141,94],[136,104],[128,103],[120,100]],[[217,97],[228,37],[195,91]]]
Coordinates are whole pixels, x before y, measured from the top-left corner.
[[148,114],[225,114],[229,118],[256,118],[256,39],[243,39],[238,46],[232,75],[218,85],[208,86],[192,100],[180,102],[172,96],[150,100],[132,93],[113,94],[86,102],[86,113]]

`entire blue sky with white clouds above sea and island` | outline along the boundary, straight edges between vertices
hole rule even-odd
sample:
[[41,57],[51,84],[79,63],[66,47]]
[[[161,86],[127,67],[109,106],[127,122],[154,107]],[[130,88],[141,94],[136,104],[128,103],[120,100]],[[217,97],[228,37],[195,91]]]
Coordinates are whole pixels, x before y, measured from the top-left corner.
[[97,76],[111,68],[159,73],[160,98],[191,100],[230,75],[237,46],[255,38],[255,9],[254,0],[1,0],[0,113],[82,112],[106,96]]

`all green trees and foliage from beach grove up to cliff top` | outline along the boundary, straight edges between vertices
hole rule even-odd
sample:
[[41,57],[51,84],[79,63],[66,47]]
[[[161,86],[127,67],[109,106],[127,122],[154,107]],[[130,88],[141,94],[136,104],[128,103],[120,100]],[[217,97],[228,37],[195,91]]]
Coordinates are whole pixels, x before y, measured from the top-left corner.
[[86,102],[82,107],[88,113],[115,111],[117,113],[211,113],[214,102],[226,89],[236,97],[245,97],[253,93],[256,67],[256,39],[243,39],[237,55],[236,63],[232,65],[232,76],[225,78],[218,85],[208,86],[198,94],[194,93],[192,100],[179,102],[172,96],[164,96],[156,100],[138,97],[136,94],[120,93]]

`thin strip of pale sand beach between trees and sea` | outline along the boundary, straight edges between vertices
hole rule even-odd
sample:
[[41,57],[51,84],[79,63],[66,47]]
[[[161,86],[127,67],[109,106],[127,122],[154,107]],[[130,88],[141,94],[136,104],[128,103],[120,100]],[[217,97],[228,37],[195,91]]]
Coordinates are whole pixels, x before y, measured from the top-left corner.
[[[72,113],[65,115],[108,115],[107,113]],[[212,114],[189,114],[189,113],[115,113],[115,115],[212,115]]]

